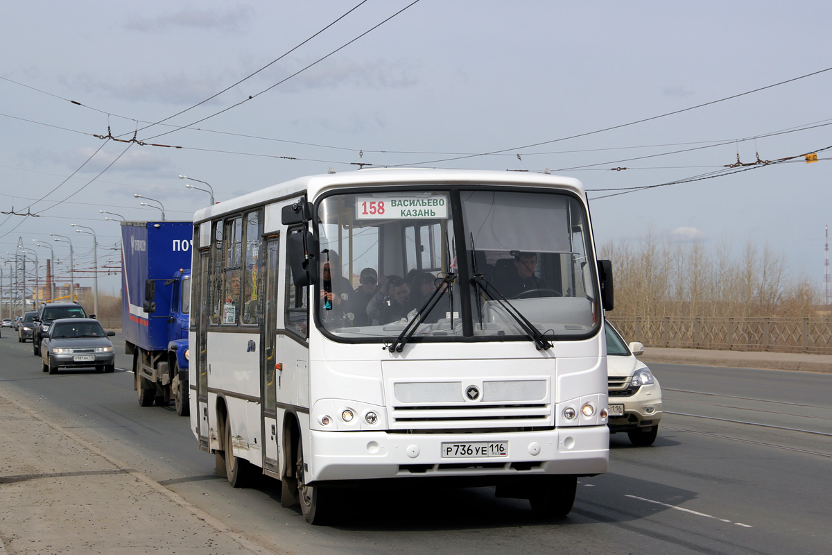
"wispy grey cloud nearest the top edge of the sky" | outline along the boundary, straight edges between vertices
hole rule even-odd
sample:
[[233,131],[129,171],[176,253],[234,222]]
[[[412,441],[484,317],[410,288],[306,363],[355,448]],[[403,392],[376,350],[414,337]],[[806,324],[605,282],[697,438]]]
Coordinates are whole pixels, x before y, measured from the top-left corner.
[[250,6],[235,6],[225,12],[216,12],[188,4],[176,12],[162,13],[156,17],[131,17],[125,27],[140,32],[161,32],[168,27],[186,27],[240,33],[245,31],[254,16],[255,10]]

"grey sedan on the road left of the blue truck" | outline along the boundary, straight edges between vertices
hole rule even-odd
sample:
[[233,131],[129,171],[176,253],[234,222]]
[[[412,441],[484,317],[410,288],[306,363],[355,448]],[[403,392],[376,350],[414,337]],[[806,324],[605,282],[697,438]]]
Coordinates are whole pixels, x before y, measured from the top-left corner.
[[104,331],[101,323],[92,318],[53,320],[41,343],[42,369],[49,374],[57,374],[60,368],[112,372],[116,369],[116,353],[110,337],[115,334]]

